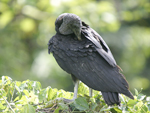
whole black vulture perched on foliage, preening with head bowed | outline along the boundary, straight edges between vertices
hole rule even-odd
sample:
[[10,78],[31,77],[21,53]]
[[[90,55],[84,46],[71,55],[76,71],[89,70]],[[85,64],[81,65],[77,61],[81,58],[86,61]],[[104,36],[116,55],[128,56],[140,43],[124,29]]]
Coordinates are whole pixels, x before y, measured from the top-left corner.
[[56,19],[55,30],[48,52],[75,83],[74,97],[67,101],[77,98],[79,80],[89,87],[90,96],[92,89],[101,91],[107,105],[120,105],[119,93],[134,99],[109,47],[95,30],[71,13]]

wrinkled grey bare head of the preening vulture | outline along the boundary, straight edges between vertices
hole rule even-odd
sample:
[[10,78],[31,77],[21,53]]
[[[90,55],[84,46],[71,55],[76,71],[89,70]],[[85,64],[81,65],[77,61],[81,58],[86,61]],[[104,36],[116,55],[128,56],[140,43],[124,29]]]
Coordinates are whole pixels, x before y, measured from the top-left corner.
[[55,29],[57,32],[63,35],[74,33],[78,40],[81,40],[81,26],[82,22],[80,18],[71,13],[61,14],[55,21]]

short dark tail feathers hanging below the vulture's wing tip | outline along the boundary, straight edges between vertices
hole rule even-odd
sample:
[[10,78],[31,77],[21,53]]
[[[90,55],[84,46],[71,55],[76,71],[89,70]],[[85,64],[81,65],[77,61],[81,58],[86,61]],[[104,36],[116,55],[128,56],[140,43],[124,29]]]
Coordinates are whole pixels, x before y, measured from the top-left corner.
[[116,92],[102,92],[105,103],[108,106],[117,104],[120,105],[119,93]]

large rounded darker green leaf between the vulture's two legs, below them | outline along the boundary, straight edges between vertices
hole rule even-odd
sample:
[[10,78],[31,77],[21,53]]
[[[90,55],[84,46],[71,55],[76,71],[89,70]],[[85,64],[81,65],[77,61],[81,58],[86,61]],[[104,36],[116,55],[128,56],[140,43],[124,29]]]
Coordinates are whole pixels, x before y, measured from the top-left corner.
[[77,109],[80,111],[84,111],[89,109],[88,102],[86,101],[86,98],[84,97],[79,97],[74,101],[74,105]]

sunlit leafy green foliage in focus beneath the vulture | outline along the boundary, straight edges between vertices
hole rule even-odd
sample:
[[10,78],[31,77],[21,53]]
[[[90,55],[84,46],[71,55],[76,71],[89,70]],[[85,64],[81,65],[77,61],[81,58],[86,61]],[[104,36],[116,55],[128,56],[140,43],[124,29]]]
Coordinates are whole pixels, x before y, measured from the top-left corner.
[[135,100],[120,95],[121,106],[108,107],[102,95],[94,91],[88,96],[88,87],[79,85],[78,98],[72,103],[64,103],[58,98],[73,97],[72,92],[47,87],[42,89],[40,82],[26,80],[14,81],[8,76],[0,80],[0,112],[4,113],[150,113],[150,96],[141,94],[135,89]]

